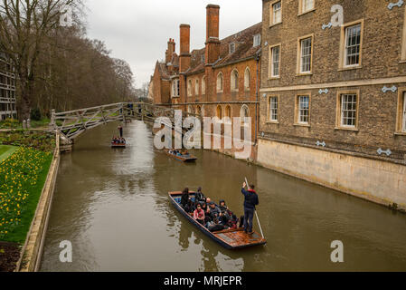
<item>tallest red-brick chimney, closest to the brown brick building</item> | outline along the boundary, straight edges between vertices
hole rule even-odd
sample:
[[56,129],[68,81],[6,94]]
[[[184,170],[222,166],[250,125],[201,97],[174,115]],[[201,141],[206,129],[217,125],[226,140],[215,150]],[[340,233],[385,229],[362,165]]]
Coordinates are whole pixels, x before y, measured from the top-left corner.
[[220,57],[219,5],[206,7],[206,64],[215,63]]

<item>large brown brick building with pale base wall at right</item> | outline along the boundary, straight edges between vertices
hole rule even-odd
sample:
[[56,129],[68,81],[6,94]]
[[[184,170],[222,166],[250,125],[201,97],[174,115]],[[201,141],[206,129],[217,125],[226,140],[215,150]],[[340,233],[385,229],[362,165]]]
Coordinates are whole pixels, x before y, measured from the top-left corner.
[[406,208],[406,5],[262,2],[258,162]]

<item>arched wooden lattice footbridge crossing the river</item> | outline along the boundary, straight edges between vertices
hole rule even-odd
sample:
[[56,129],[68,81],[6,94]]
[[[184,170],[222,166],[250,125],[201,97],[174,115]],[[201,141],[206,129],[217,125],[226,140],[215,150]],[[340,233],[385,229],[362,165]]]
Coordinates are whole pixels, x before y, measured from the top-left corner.
[[[187,116],[197,116],[194,113],[183,113]],[[84,131],[111,121],[139,120],[154,123],[159,117],[167,117],[171,123],[165,126],[175,129],[175,110],[173,108],[156,106],[146,102],[118,102],[99,107],[74,111],[55,112],[52,110],[50,127],[58,131],[70,144]]]

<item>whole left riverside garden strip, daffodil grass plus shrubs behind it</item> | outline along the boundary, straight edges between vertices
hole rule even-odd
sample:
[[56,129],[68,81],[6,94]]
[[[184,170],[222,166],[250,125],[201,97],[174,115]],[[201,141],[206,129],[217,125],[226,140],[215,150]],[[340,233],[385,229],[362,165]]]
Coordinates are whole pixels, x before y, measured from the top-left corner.
[[[55,137],[0,132],[0,242],[24,244],[52,162]],[[14,146],[10,146],[14,145]]]

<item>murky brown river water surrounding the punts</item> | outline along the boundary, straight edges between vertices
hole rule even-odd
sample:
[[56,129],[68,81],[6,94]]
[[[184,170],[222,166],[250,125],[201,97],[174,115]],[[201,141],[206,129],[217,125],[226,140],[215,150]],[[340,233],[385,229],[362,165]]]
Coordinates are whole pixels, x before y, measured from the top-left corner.
[[[212,151],[195,150],[195,164],[172,160],[140,121],[125,127],[127,149],[112,150],[117,126],[87,132],[62,155],[42,271],[406,270],[404,214]],[[264,247],[222,248],[167,196],[202,186],[241,215],[244,177],[257,186]],[[71,263],[60,261],[64,240]],[[343,242],[344,263],[331,262],[334,240]]]

